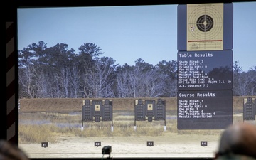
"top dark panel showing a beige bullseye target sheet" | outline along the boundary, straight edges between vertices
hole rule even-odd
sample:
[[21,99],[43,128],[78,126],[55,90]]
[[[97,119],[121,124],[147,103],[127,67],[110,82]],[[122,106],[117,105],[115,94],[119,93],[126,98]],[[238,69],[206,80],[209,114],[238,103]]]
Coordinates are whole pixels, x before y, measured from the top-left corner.
[[232,50],[233,3],[179,4],[178,50]]

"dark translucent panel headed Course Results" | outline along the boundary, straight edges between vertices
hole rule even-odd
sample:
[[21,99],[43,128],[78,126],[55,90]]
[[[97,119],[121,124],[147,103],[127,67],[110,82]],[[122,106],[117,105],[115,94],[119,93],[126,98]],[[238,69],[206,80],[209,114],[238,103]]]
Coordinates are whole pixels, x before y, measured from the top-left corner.
[[233,123],[232,90],[178,91],[178,129],[226,129]]

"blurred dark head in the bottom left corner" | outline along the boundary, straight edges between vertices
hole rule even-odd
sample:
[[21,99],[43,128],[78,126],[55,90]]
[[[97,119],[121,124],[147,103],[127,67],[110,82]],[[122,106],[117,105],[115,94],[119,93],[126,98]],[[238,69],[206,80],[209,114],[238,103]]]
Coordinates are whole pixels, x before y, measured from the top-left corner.
[[0,140],[0,160],[29,160],[28,156],[15,144]]

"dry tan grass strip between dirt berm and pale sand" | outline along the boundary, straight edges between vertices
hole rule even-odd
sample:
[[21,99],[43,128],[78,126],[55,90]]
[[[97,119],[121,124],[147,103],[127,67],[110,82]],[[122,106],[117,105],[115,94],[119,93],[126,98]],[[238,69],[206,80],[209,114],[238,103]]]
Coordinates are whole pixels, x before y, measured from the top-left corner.
[[[166,133],[176,134],[201,134],[218,135],[223,130],[194,129],[178,130],[176,119],[164,121],[139,121],[134,129],[134,117],[124,113],[114,113],[116,118],[112,122],[83,122],[81,114],[60,113],[20,113],[18,122],[19,143],[58,142],[63,134],[74,137],[139,137],[139,136],[164,136]],[[234,116],[233,122],[242,122],[241,116]],[[112,130],[113,128],[113,130]]]

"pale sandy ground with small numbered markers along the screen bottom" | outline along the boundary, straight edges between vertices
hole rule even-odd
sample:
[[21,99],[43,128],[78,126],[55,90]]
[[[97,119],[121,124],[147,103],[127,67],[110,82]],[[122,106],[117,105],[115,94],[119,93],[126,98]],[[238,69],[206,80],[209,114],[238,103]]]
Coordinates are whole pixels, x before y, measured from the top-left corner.
[[[59,137],[59,142],[42,147],[41,144],[19,144],[30,158],[102,158],[103,146],[112,146],[112,158],[213,158],[218,136],[168,133],[163,137]],[[147,146],[153,141],[154,146]],[[207,146],[201,146],[206,141]],[[101,142],[101,146],[95,146]]]

